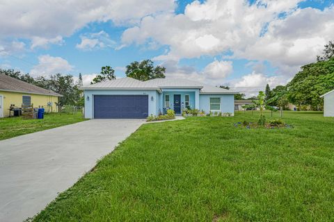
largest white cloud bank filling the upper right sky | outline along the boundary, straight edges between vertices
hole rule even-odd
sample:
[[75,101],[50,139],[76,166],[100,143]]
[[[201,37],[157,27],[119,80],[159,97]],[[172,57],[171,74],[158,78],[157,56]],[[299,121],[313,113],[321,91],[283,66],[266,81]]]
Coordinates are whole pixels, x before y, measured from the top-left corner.
[[301,1],[193,1],[184,14],[144,17],[122,34],[122,44],[154,41],[169,46],[154,60],[200,58],[231,51],[234,55],[230,58],[267,60],[278,67],[278,74],[289,77],[301,65],[315,61],[334,36],[334,6],[324,11],[297,8]]

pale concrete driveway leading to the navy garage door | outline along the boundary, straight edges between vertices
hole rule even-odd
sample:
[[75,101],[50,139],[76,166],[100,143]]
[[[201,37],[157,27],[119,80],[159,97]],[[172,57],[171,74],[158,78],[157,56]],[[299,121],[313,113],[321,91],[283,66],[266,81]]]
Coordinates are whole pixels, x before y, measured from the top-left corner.
[[144,123],[93,119],[0,141],[0,221],[23,221]]

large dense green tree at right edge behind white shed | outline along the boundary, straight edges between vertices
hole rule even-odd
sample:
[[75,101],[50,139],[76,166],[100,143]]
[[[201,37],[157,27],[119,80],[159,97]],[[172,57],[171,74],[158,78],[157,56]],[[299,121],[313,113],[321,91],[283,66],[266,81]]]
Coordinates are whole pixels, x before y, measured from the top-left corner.
[[334,88],[334,58],[301,67],[287,85],[287,99],[295,105],[310,105],[312,110],[321,110],[322,94]]

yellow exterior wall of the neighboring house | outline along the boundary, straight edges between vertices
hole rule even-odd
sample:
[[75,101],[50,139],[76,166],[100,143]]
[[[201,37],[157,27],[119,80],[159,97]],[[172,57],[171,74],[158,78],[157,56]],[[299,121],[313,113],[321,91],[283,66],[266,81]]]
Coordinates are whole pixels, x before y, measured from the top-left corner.
[[[0,91],[0,95],[3,96],[3,117],[9,117],[9,108],[11,104],[17,107],[22,105],[22,96],[31,96],[31,103],[34,108],[44,107],[48,108],[47,103],[52,102],[50,107],[51,112],[58,112],[56,103],[58,103],[58,96],[48,96],[39,94],[29,94],[22,92],[6,92]],[[13,113],[12,113],[13,114]]]

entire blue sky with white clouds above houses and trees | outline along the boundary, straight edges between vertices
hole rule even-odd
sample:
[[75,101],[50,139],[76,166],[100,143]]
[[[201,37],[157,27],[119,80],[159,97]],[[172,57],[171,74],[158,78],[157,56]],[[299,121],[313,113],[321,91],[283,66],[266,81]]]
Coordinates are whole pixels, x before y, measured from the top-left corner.
[[3,69],[88,83],[149,58],[168,78],[249,91],[315,61],[334,40],[334,0],[0,0],[0,21]]

